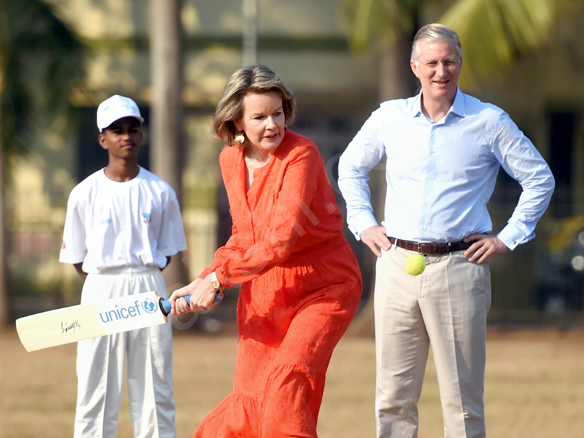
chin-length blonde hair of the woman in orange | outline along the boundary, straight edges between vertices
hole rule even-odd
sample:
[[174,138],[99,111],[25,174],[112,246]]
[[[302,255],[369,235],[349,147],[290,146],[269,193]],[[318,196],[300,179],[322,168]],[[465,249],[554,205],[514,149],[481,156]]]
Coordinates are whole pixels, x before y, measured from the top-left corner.
[[225,84],[223,96],[215,109],[211,134],[223,140],[225,146],[232,146],[238,134],[234,120],[244,115],[242,101],[249,93],[275,91],[282,98],[282,109],[286,124],[294,122],[296,98],[282,79],[265,65],[248,65],[231,75]]

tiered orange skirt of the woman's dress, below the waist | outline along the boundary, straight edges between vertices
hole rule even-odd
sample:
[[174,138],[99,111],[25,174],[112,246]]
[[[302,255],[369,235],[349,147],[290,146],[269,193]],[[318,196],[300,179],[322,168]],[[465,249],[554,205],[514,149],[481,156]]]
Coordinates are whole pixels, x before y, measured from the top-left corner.
[[361,288],[349,244],[242,284],[233,391],[194,437],[316,437],[326,369]]

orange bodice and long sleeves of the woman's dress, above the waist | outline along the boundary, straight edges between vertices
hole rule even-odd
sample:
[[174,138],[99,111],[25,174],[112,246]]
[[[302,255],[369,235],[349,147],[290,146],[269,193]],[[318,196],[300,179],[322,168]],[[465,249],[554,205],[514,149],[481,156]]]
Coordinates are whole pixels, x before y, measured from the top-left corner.
[[[256,169],[248,193],[242,178],[243,151],[226,148],[221,153],[230,204],[235,206],[234,233],[215,253],[210,269],[204,274],[215,270],[226,287],[258,277],[294,252],[310,251],[311,246],[319,246],[338,234],[339,224],[342,227],[332,190],[318,190],[330,183],[316,145],[290,131],[286,135],[288,141],[278,148],[270,162]],[[262,203],[266,192],[272,195],[269,196],[272,203]],[[246,223],[245,216],[251,221]],[[246,229],[243,238],[238,232],[240,228]]]

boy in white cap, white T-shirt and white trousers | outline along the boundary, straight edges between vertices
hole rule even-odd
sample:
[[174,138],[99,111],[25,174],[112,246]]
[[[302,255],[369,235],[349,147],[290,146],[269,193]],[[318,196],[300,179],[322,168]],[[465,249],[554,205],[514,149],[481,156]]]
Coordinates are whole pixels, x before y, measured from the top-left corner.
[[[161,270],[187,248],[176,194],[138,165],[144,119],[133,100],[105,100],[97,121],[109,163],[69,195],[59,260],[84,280],[81,304],[152,290],[166,298]],[[126,358],[134,437],[176,437],[168,322],[79,341],[75,438],[116,435]]]

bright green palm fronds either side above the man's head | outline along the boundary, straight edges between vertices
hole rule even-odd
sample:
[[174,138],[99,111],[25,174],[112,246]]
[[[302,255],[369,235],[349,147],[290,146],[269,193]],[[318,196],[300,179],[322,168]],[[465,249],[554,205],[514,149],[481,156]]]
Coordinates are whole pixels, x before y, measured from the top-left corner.
[[[432,0],[345,0],[354,50],[415,31]],[[518,57],[541,47],[568,4],[582,0],[457,0],[439,20],[458,33],[464,51],[460,84],[498,78]],[[422,23],[425,24],[425,23]]]

